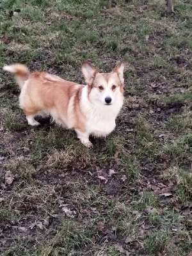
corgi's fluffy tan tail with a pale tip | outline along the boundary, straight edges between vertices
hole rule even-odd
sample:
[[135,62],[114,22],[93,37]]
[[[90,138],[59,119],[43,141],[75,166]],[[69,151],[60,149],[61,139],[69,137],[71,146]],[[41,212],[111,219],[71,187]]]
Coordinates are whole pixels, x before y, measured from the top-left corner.
[[15,74],[17,83],[19,84],[20,89],[22,89],[22,86],[24,85],[30,74],[28,68],[22,64],[13,64],[10,66],[4,66],[3,69]]

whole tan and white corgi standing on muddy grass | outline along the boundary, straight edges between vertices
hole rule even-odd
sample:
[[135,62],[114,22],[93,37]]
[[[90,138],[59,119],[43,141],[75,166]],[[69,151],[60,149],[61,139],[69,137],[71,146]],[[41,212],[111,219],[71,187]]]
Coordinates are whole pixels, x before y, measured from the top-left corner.
[[100,73],[88,61],[81,67],[86,85],[46,72],[30,73],[22,64],[4,66],[15,74],[20,87],[20,108],[29,125],[39,125],[35,116],[49,116],[56,124],[75,129],[84,146],[89,136],[105,137],[115,129],[115,119],[124,102],[124,61],[110,73]]

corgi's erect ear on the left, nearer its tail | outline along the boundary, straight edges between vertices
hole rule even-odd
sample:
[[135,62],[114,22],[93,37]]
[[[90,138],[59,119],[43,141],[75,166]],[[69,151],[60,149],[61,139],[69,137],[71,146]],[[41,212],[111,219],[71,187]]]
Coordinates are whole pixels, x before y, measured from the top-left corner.
[[97,68],[93,67],[93,65],[88,61],[83,61],[81,70],[86,84],[88,84],[88,86],[92,86],[95,76],[98,72]]

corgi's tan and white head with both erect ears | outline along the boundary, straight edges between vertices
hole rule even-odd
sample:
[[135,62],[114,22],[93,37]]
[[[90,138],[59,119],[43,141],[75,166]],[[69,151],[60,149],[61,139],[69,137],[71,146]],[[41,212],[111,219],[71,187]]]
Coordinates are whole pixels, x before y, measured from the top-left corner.
[[82,72],[92,100],[112,105],[118,98],[116,96],[124,93],[124,66],[121,61],[112,72],[99,73],[92,64],[83,62]]

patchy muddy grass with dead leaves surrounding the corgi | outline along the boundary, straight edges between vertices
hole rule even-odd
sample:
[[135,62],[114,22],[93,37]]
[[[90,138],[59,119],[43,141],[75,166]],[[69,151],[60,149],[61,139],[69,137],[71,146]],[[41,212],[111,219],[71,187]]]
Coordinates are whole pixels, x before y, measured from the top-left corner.
[[192,250],[192,6],[178,0],[172,16],[163,1],[116,2],[0,3],[0,67],[21,62],[84,83],[82,61],[109,72],[125,60],[124,107],[93,150],[49,120],[29,127],[13,76],[1,72],[3,256]]

